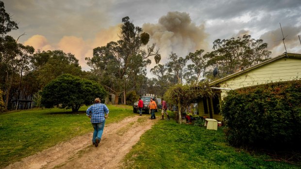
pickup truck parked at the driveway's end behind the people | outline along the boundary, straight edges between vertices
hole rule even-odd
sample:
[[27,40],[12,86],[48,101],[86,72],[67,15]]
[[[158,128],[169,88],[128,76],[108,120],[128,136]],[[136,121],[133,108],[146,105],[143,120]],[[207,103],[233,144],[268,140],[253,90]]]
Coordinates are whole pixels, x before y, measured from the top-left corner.
[[[145,111],[147,113],[150,114],[150,108],[149,108],[149,104],[150,101],[154,100],[157,104],[157,109],[155,110],[156,112],[159,111],[159,109],[162,109],[162,103],[161,103],[161,98],[156,98],[154,96],[141,96],[141,100],[143,101],[143,108],[142,111]],[[135,102],[133,105],[133,112],[137,113],[138,112],[138,102]]]

